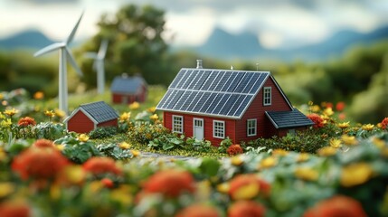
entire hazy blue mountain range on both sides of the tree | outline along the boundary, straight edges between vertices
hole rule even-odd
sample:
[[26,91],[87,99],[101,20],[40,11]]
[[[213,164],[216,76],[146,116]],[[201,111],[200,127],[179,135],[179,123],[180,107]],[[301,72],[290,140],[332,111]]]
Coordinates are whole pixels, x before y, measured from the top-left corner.
[[[381,27],[370,33],[357,33],[343,30],[333,34],[323,42],[308,44],[296,48],[264,48],[256,34],[243,32],[228,33],[221,28],[214,28],[213,33],[200,46],[175,47],[173,51],[189,50],[199,55],[222,60],[281,60],[281,61],[322,61],[343,54],[355,44],[370,44],[388,39],[388,26]],[[40,49],[53,41],[37,30],[26,30],[4,39],[0,39],[0,50]],[[78,43],[78,42],[76,42]]]

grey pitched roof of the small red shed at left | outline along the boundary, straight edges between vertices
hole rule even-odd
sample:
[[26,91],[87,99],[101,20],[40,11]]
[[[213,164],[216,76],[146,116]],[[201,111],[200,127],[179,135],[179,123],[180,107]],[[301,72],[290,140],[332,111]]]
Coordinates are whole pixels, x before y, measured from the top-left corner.
[[68,120],[80,110],[86,116],[88,116],[95,124],[103,123],[105,121],[118,118],[118,113],[115,111],[115,109],[111,108],[104,101],[97,101],[80,105],[80,108],[75,109],[71,113],[71,116],[66,118],[64,121],[68,122]]

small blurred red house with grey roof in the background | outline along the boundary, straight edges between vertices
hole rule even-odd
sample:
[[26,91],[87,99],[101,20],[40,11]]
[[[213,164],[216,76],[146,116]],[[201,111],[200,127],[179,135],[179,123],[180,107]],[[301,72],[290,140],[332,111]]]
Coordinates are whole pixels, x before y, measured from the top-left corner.
[[116,77],[110,86],[115,104],[130,104],[147,99],[147,82],[140,75],[129,77],[126,73]]

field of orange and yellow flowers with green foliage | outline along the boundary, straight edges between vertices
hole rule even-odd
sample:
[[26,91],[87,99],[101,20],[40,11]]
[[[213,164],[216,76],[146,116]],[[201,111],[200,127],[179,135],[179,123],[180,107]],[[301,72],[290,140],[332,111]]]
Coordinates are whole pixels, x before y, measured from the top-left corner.
[[309,103],[303,134],[214,147],[141,105],[79,135],[60,111],[2,100],[0,216],[388,216],[388,118],[357,125]]

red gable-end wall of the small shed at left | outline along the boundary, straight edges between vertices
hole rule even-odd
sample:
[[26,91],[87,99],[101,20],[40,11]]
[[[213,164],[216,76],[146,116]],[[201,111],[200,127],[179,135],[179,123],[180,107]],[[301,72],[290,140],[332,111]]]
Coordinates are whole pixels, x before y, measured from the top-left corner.
[[94,129],[94,123],[90,120],[82,111],[78,111],[67,122],[67,128],[69,131],[77,133],[89,133]]

